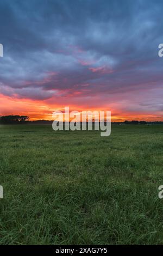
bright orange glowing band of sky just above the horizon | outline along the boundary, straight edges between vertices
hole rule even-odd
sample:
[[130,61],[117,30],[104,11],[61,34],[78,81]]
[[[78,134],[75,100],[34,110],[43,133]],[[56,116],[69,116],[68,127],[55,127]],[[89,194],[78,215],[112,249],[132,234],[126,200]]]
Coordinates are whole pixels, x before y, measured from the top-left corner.
[[163,121],[161,113],[139,113],[139,112],[122,112],[118,105],[108,105],[108,107],[95,107],[87,108],[86,106],[80,106],[77,104],[65,105],[54,104],[48,100],[30,100],[30,99],[18,99],[16,97],[9,97],[0,94],[1,101],[1,115],[28,115],[29,120],[53,120],[52,114],[54,111],[64,112],[64,107],[69,106],[71,111],[111,111],[111,121],[125,121],[125,120],[145,120],[145,121]]

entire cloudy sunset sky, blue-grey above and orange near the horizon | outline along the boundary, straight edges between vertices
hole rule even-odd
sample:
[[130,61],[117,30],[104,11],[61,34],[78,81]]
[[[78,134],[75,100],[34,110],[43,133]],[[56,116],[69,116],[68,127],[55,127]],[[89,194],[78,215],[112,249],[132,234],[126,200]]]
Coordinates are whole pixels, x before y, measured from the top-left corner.
[[163,121],[163,2],[0,0],[0,115]]

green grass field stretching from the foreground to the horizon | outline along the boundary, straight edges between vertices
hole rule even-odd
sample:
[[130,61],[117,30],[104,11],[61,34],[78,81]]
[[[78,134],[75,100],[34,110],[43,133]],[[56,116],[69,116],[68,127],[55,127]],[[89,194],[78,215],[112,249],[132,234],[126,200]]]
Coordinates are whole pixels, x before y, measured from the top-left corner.
[[0,243],[163,244],[163,126],[1,125]]

